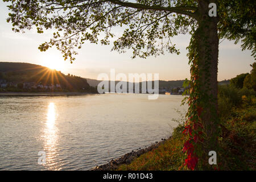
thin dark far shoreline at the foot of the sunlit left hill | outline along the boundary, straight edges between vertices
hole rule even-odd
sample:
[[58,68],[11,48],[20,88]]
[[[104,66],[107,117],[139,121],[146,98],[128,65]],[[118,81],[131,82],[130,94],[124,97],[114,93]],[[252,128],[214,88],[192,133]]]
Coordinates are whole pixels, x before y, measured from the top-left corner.
[[0,92],[0,96],[76,96],[97,93],[87,92]]

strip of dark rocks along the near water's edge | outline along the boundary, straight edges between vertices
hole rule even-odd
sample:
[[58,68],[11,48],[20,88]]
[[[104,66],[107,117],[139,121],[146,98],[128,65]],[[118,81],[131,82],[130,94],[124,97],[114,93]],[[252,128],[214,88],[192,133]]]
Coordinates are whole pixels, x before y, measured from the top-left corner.
[[138,148],[138,150],[131,151],[125,155],[122,155],[120,158],[111,160],[109,163],[96,166],[90,169],[90,171],[113,171],[115,169],[118,169],[118,167],[121,166],[122,164],[130,164],[131,162],[133,162],[135,158],[138,158],[142,154],[157,148],[158,146],[160,146],[160,144],[164,143],[165,141],[166,139],[162,139],[162,141],[155,142],[151,144],[151,146],[149,147],[142,148],[142,149]]

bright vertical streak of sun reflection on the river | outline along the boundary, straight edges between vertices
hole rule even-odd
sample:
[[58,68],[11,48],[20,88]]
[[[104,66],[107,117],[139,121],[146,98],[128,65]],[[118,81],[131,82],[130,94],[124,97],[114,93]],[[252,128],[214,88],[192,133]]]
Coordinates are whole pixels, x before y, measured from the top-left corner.
[[57,159],[57,127],[56,127],[56,110],[53,102],[49,103],[47,111],[46,127],[44,128],[44,151],[46,151],[46,167],[49,170],[59,170],[59,162]]

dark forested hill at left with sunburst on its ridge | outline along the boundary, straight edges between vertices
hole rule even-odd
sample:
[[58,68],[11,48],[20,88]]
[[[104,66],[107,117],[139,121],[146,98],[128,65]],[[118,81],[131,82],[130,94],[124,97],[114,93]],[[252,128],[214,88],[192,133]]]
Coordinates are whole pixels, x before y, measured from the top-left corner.
[[69,91],[95,90],[85,78],[64,75],[60,71],[30,63],[0,62],[0,82],[11,85],[31,83],[37,87],[38,85],[59,85],[59,88]]

